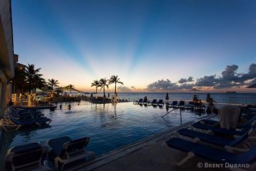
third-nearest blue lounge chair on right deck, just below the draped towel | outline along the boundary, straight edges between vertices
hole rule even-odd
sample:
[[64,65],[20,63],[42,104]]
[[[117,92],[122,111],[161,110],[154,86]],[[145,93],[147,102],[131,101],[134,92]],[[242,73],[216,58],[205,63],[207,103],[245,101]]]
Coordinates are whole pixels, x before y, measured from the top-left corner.
[[235,130],[235,129],[228,130],[225,128],[218,128],[216,126],[205,125],[205,124],[202,124],[201,122],[196,122],[195,124],[192,124],[192,126],[194,128],[199,128],[201,130],[207,130],[207,131],[211,131],[211,132],[222,134],[222,135],[243,135],[250,128],[250,126],[247,126],[242,130]]

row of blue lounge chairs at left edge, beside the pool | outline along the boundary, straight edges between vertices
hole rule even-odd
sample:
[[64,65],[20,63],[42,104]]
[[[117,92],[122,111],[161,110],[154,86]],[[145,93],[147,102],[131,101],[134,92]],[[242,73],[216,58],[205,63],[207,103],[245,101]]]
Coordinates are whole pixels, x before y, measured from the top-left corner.
[[51,119],[43,116],[40,110],[9,107],[5,110],[0,124],[5,131],[8,131],[10,128],[18,130],[22,126],[45,126],[50,122]]

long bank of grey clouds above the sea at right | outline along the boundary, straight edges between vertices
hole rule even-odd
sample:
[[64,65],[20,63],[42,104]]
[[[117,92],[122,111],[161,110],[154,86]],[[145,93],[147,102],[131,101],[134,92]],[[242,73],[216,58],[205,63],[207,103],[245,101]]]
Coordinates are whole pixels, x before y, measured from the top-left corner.
[[152,84],[147,85],[148,90],[177,90],[177,89],[192,89],[196,86],[198,88],[230,88],[241,87],[243,85],[251,85],[256,83],[256,64],[250,64],[247,73],[238,73],[238,65],[227,65],[221,72],[221,76],[215,75],[203,76],[198,78],[195,84],[187,84],[193,82],[193,78],[181,78],[177,83],[172,83],[170,80],[158,80]]

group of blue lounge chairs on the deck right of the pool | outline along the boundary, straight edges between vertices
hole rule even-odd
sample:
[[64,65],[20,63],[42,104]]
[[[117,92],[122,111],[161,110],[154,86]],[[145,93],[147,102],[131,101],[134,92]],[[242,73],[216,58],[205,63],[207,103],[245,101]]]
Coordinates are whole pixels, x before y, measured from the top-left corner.
[[[237,129],[233,130],[213,126],[216,124],[214,120],[195,122],[189,128],[178,130],[163,146],[166,147],[170,159],[178,166],[192,157],[199,157],[215,163],[240,164],[236,166],[252,164],[251,167],[254,167],[256,115],[243,114],[243,117],[248,119],[247,122],[238,124]],[[170,149],[182,151],[187,155],[184,159],[176,161]]]

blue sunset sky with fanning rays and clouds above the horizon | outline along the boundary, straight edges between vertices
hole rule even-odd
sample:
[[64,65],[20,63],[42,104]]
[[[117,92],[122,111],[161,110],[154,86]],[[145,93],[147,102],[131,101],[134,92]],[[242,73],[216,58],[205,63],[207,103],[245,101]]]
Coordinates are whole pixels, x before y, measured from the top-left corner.
[[247,0],[13,0],[14,53],[84,91],[112,75],[120,91],[253,91],[243,87],[256,83],[255,9]]

